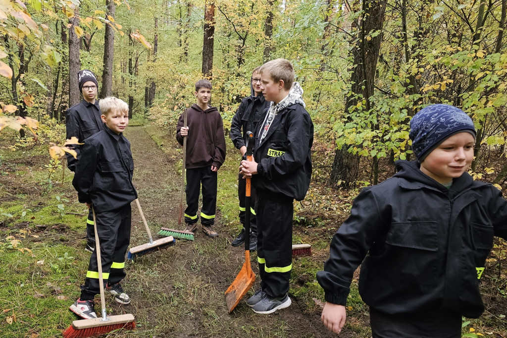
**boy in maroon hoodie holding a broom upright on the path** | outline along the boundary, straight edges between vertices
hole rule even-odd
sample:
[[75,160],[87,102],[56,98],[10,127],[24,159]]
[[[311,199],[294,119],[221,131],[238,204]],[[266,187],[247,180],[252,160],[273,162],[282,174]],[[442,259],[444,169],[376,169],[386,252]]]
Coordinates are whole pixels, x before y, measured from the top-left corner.
[[202,231],[211,238],[217,237],[211,227],[215,222],[216,172],[225,161],[225,135],[222,116],[218,109],[209,107],[211,82],[199,80],[195,84],[197,104],[187,110],[187,127],[183,126],[184,116],[179,117],[176,126],[176,140],[183,145],[187,136],[187,209],[185,209],[186,231],[197,229],[197,209],[202,182]]

